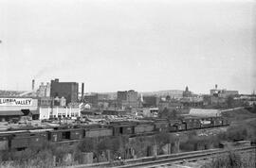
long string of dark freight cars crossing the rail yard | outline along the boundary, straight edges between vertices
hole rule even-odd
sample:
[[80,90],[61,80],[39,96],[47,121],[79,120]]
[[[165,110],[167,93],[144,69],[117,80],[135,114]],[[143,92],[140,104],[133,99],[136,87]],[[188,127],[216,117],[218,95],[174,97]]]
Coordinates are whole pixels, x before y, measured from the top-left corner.
[[188,118],[184,120],[149,120],[141,122],[111,122],[109,125],[57,126],[44,129],[13,130],[0,132],[0,150],[25,149],[29,145],[43,142],[69,143],[85,138],[143,136],[159,132],[179,132],[229,126],[222,117]]

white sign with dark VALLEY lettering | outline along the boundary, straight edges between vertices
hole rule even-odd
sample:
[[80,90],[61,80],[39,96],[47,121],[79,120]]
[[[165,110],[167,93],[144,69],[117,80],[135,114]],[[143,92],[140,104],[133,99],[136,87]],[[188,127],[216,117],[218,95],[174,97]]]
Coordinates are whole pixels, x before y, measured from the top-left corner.
[[0,106],[32,106],[31,98],[0,98]]

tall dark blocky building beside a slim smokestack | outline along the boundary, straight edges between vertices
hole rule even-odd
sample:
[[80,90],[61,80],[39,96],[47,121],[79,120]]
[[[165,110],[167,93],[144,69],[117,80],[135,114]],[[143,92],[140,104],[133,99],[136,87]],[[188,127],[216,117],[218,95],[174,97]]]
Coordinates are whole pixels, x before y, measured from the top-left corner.
[[76,82],[59,82],[59,79],[51,80],[50,96],[64,97],[66,104],[78,102],[79,84]]

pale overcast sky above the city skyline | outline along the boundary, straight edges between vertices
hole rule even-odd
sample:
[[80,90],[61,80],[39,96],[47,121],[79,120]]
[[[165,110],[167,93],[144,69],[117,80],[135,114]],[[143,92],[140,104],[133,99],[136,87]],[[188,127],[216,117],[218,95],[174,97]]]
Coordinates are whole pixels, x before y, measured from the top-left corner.
[[0,0],[0,40],[0,90],[256,90],[254,0]]

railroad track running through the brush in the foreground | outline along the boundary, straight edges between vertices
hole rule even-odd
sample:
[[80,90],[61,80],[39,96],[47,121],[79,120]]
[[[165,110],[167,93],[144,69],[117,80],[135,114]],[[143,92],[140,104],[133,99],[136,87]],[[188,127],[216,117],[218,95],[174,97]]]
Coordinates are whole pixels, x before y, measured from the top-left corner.
[[[210,150],[201,150],[201,151],[192,151],[192,152],[184,152],[178,154],[171,155],[161,155],[155,157],[145,157],[140,159],[133,160],[125,160],[125,165],[120,165],[120,161],[113,162],[100,162],[93,164],[81,164],[81,165],[73,165],[74,168],[89,168],[89,167],[118,167],[118,168],[154,168],[159,166],[171,165],[174,163],[180,163],[184,160],[192,161],[192,160],[203,160],[209,159],[210,157],[214,157],[217,155],[227,154],[230,150],[228,149],[210,149]],[[245,152],[245,151],[255,151],[255,146],[247,146],[234,148],[232,151]]]

